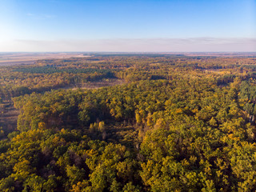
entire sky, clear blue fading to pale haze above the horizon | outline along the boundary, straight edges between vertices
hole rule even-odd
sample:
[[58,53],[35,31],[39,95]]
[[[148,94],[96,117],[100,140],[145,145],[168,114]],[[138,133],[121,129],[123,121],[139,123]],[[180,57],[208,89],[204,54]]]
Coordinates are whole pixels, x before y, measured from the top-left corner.
[[0,0],[0,52],[256,52],[256,0]]

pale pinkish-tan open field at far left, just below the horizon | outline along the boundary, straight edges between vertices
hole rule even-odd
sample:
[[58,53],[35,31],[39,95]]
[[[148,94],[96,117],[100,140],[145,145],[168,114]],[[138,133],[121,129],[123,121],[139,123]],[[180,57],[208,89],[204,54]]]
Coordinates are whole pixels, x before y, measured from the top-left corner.
[[81,53],[0,53],[0,66],[30,65],[40,59],[88,57]]

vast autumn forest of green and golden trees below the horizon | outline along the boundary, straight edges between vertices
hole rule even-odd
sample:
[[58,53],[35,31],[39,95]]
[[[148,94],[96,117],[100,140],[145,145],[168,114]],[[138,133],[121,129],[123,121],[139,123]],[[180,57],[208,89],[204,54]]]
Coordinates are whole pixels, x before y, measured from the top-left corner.
[[0,191],[255,191],[255,121],[256,57],[0,66]]

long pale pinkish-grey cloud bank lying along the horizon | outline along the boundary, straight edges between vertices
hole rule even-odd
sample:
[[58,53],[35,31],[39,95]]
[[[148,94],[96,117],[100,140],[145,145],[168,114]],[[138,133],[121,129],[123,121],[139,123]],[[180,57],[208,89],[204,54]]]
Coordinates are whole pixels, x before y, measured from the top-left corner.
[[20,39],[0,43],[0,51],[256,52],[256,38]]

